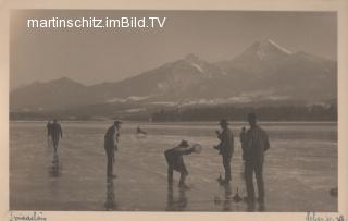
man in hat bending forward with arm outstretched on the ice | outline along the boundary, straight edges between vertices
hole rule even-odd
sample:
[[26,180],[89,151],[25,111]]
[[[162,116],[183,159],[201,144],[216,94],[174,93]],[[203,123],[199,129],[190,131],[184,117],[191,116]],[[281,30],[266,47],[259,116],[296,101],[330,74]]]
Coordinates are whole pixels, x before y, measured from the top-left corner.
[[188,175],[188,171],[186,169],[183,156],[190,155],[195,151],[194,147],[188,147],[188,143],[186,140],[182,140],[177,147],[164,151],[167,162],[167,183],[170,186],[173,185],[173,172],[175,170],[181,173],[178,186],[181,188],[188,188],[188,186],[185,184],[185,179]]

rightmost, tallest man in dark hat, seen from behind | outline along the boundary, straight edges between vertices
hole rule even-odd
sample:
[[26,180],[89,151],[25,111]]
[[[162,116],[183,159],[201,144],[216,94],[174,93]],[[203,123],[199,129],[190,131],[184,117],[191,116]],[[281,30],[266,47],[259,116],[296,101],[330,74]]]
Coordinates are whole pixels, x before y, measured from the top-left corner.
[[250,128],[247,132],[246,138],[246,167],[245,167],[245,176],[246,176],[246,186],[247,202],[254,202],[254,189],[253,189],[253,172],[257,177],[258,201],[260,204],[264,202],[264,184],[263,184],[263,161],[264,161],[264,151],[270,148],[269,136],[265,131],[263,131],[257,124],[257,115],[254,113],[248,114],[248,122]]

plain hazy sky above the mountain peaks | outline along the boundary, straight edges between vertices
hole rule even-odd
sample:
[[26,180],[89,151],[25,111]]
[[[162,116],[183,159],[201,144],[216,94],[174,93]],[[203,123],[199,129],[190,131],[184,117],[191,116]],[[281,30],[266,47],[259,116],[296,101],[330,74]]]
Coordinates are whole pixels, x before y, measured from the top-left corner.
[[[27,28],[27,19],[160,16],[163,28]],[[195,53],[232,60],[257,40],[337,60],[335,12],[15,10],[10,23],[10,88],[69,77],[116,82]]]

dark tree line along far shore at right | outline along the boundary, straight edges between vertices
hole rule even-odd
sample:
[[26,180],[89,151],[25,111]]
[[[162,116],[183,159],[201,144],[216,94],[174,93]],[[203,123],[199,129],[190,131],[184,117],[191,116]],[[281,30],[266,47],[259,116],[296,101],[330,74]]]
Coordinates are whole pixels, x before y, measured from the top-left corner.
[[279,106],[279,107],[196,107],[160,110],[152,113],[152,121],[245,121],[254,112],[262,121],[337,121],[337,106]]

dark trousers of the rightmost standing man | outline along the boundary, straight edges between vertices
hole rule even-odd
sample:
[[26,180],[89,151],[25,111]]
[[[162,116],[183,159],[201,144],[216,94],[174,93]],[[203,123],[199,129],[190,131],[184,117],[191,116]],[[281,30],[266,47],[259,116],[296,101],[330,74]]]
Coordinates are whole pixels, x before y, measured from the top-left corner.
[[246,187],[248,198],[254,199],[253,189],[253,172],[257,177],[259,198],[264,198],[264,184],[263,184],[263,161],[262,160],[246,160],[245,163],[245,175],[246,175]]

